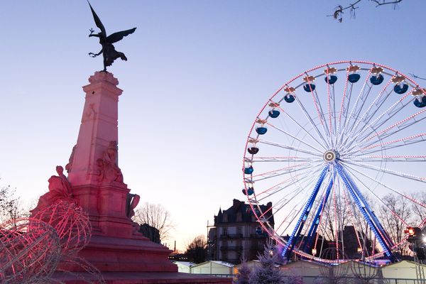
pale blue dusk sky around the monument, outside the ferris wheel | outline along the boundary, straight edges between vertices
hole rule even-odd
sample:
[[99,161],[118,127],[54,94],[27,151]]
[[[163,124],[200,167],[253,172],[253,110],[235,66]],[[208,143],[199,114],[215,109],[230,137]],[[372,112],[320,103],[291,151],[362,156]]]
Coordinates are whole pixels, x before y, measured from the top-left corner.
[[[184,249],[241,193],[246,137],[284,82],[316,65],[368,60],[426,77],[425,1],[332,13],[349,1],[92,0],[127,62],[108,68],[119,102],[119,167],[162,204]],[[1,1],[0,185],[24,204],[48,190],[77,141],[82,86],[102,70],[87,1]]]

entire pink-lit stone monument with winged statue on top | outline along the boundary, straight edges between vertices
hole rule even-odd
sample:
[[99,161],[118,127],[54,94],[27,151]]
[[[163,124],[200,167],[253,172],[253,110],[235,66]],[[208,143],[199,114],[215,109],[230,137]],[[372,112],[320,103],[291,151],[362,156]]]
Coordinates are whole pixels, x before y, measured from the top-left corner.
[[[89,84],[83,87],[84,109],[77,144],[65,166],[68,176],[61,166],[57,167],[58,176],[49,179],[49,192],[40,197],[32,214],[61,200],[82,207],[89,214],[92,238],[79,256],[92,263],[107,283],[231,283],[229,278],[178,273],[177,266],[168,259],[171,251],[149,241],[131,221],[139,197],[130,194],[119,168],[118,102],[123,91],[117,87],[119,81],[114,75],[107,72],[107,66],[116,58],[126,60],[112,43],[136,28],[107,37],[92,6],[90,9],[101,33],[93,35],[91,29],[89,36],[99,37],[104,70],[90,76]],[[79,266],[68,264],[66,270],[84,274]],[[65,273],[58,272],[55,277],[65,283],[83,283]]]

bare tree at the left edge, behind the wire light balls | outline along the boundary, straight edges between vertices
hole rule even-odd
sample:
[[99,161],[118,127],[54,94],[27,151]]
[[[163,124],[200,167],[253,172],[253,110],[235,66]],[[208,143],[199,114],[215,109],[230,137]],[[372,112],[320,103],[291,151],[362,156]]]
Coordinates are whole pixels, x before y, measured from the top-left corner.
[[10,185],[0,187],[0,223],[23,216],[23,210],[19,207],[19,198],[14,195],[15,190]]

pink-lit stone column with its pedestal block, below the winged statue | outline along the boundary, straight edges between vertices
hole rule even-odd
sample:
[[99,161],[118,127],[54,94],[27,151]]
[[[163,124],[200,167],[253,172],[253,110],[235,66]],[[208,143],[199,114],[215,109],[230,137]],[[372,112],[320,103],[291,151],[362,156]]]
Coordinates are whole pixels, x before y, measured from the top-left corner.
[[66,166],[72,195],[90,217],[94,234],[127,237],[132,234],[126,215],[129,193],[118,165],[118,102],[123,92],[109,72],[95,72],[86,93],[82,123]]

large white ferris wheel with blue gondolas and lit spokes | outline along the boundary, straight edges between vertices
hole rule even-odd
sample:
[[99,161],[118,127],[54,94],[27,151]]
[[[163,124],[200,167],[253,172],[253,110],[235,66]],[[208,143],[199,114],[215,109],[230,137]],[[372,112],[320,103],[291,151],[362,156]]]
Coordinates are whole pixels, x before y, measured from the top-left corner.
[[[385,65],[331,62],[293,77],[246,141],[243,193],[259,229],[284,258],[394,260],[401,230],[426,224],[413,213],[426,211],[425,118],[426,89]],[[331,247],[334,259],[322,254]]]

